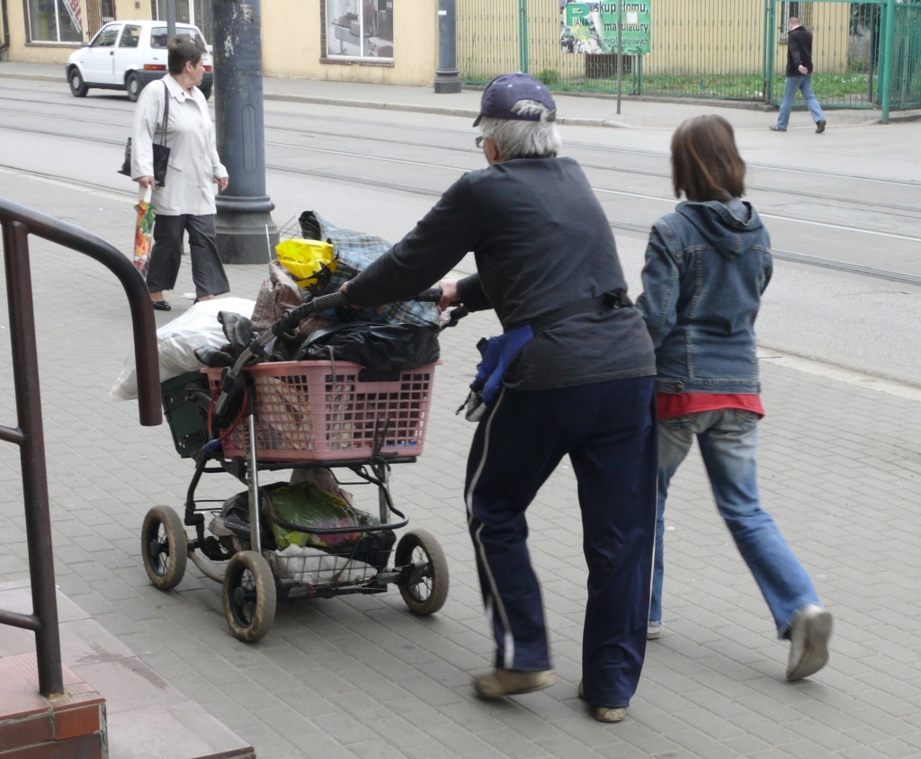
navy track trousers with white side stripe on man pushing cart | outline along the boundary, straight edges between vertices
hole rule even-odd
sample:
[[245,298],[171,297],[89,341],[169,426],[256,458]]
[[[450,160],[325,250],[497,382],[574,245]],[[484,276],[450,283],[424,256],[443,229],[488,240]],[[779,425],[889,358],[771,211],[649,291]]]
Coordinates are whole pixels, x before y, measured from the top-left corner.
[[[467,463],[467,517],[495,635],[495,666],[542,671],[550,669],[550,652],[525,510],[569,455],[589,565],[582,682],[592,706],[628,706],[646,656],[655,403],[652,377],[548,391],[503,388],[477,427]],[[569,519],[569,504],[558,506],[559,519]],[[542,539],[553,545],[570,535],[561,528]]]

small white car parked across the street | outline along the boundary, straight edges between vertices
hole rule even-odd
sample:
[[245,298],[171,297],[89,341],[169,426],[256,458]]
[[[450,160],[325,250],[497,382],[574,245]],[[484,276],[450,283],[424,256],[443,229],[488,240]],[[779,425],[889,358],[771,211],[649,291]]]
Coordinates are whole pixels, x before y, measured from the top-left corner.
[[[176,34],[204,42],[204,34],[191,24],[176,24]],[[211,53],[202,57],[201,90],[210,98],[215,81]],[[75,98],[85,97],[89,88],[123,89],[134,102],[146,85],[167,74],[167,22],[111,21],[70,54],[66,72]]]

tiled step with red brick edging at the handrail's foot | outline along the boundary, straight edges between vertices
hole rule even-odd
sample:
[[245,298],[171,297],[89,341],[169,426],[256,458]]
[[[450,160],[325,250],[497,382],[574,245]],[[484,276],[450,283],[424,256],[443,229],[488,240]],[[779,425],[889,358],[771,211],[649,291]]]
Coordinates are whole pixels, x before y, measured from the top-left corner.
[[[0,608],[31,613],[28,582]],[[39,695],[35,636],[0,625],[0,759],[255,759],[253,748],[58,592],[64,696]]]

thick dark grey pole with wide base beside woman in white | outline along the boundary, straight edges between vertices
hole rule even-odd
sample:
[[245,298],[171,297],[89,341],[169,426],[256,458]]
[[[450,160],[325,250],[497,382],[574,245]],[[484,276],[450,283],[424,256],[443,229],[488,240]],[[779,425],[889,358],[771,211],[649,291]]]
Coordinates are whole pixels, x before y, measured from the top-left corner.
[[217,251],[223,263],[262,263],[278,228],[265,193],[260,0],[221,0],[214,9],[217,152],[230,175],[216,198]]

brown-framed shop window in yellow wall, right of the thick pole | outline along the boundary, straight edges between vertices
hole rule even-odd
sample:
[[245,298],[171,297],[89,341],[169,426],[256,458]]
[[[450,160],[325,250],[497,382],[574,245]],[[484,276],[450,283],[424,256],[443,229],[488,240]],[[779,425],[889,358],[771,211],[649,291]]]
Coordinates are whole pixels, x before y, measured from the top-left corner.
[[393,0],[324,0],[327,59],[393,60]]

